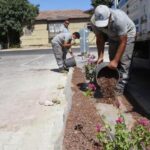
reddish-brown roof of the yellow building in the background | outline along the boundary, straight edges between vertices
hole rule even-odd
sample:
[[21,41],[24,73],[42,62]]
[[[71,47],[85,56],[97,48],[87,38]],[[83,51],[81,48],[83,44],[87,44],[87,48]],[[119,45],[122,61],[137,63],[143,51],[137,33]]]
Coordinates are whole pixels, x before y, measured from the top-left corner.
[[90,18],[90,15],[82,10],[57,10],[41,11],[36,20],[65,20],[65,19],[82,19]]

